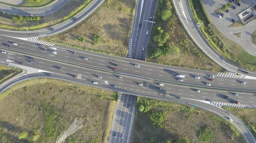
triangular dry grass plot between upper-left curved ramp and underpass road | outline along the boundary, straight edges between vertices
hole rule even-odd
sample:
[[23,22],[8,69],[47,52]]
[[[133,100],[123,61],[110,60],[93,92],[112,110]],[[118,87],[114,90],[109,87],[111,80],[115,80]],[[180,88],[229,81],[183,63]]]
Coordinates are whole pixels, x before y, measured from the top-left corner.
[[76,27],[42,41],[126,57],[135,0],[106,0]]

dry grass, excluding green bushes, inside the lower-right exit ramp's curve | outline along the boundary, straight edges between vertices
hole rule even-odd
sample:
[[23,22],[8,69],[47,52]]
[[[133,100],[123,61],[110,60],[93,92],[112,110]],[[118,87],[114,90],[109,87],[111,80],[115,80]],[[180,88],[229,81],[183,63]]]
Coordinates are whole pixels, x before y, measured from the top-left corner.
[[[167,139],[175,140],[188,138],[190,143],[201,143],[198,138],[198,131],[201,127],[208,126],[214,130],[212,140],[207,143],[245,143],[244,137],[234,137],[227,120],[201,109],[192,109],[191,113],[182,111],[186,106],[169,101],[154,100],[151,110],[166,111],[166,129],[152,126],[152,121],[148,118],[149,112],[140,113],[134,119],[133,130],[131,133],[132,143],[146,143],[151,137],[160,143],[165,143]],[[191,108],[191,107],[189,107]],[[237,131],[238,132],[238,131]]]

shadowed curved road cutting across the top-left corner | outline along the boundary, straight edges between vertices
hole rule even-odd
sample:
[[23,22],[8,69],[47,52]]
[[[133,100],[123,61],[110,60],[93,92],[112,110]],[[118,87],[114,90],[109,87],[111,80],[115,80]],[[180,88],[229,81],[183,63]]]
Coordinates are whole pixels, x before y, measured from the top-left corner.
[[16,14],[16,15],[22,15],[22,16],[38,16],[38,17],[44,17],[48,14],[52,14],[55,11],[58,11],[58,9],[62,8],[67,4],[68,2],[72,3],[73,0],[55,0],[53,3],[43,6],[43,7],[15,7],[15,6],[9,6],[5,4],[0,4],[0,11],[9,13],[9,14]]

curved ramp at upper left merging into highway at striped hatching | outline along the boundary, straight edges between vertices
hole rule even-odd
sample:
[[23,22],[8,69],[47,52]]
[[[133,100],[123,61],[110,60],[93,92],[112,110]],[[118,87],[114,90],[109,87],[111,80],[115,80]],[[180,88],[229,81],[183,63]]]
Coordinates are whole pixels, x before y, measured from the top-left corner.
[[[60,1],[60,0],[58,0]],[[52,28],[46,28],[36,31],[9,31],[9,30],[0,30],[0,36],[9,36],[9,37],[16,37],[23,40],[28,40],[28,38],[35,38],[38,39],[38,37],[45,37],[50,36],[53,34],[57,34],[61,31],[65,31],[68,28],[71,28],[72,26],[78,24],[82,20],[84,20],[87,16],[89,16],[96,8],[98,8],[104,0],[93,0],[86,8],[84,8],[83,11],[81,11],[79,14],[76,15],[76,17],[71,18],[70,20],[67,20],[66,22],[63,22],[59,25],[55,25],[52,28],[54,28],[54,31],[50,31]],[[75,18],[78,18],[77,21],[73,21]]]

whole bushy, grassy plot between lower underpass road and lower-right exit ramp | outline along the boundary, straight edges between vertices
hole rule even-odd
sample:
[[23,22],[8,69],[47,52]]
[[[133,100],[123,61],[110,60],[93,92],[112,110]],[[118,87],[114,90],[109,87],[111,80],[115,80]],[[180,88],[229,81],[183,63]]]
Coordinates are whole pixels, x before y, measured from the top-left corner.
[[138,98],[132,143],[246,143],[224,118],[202,109]]

